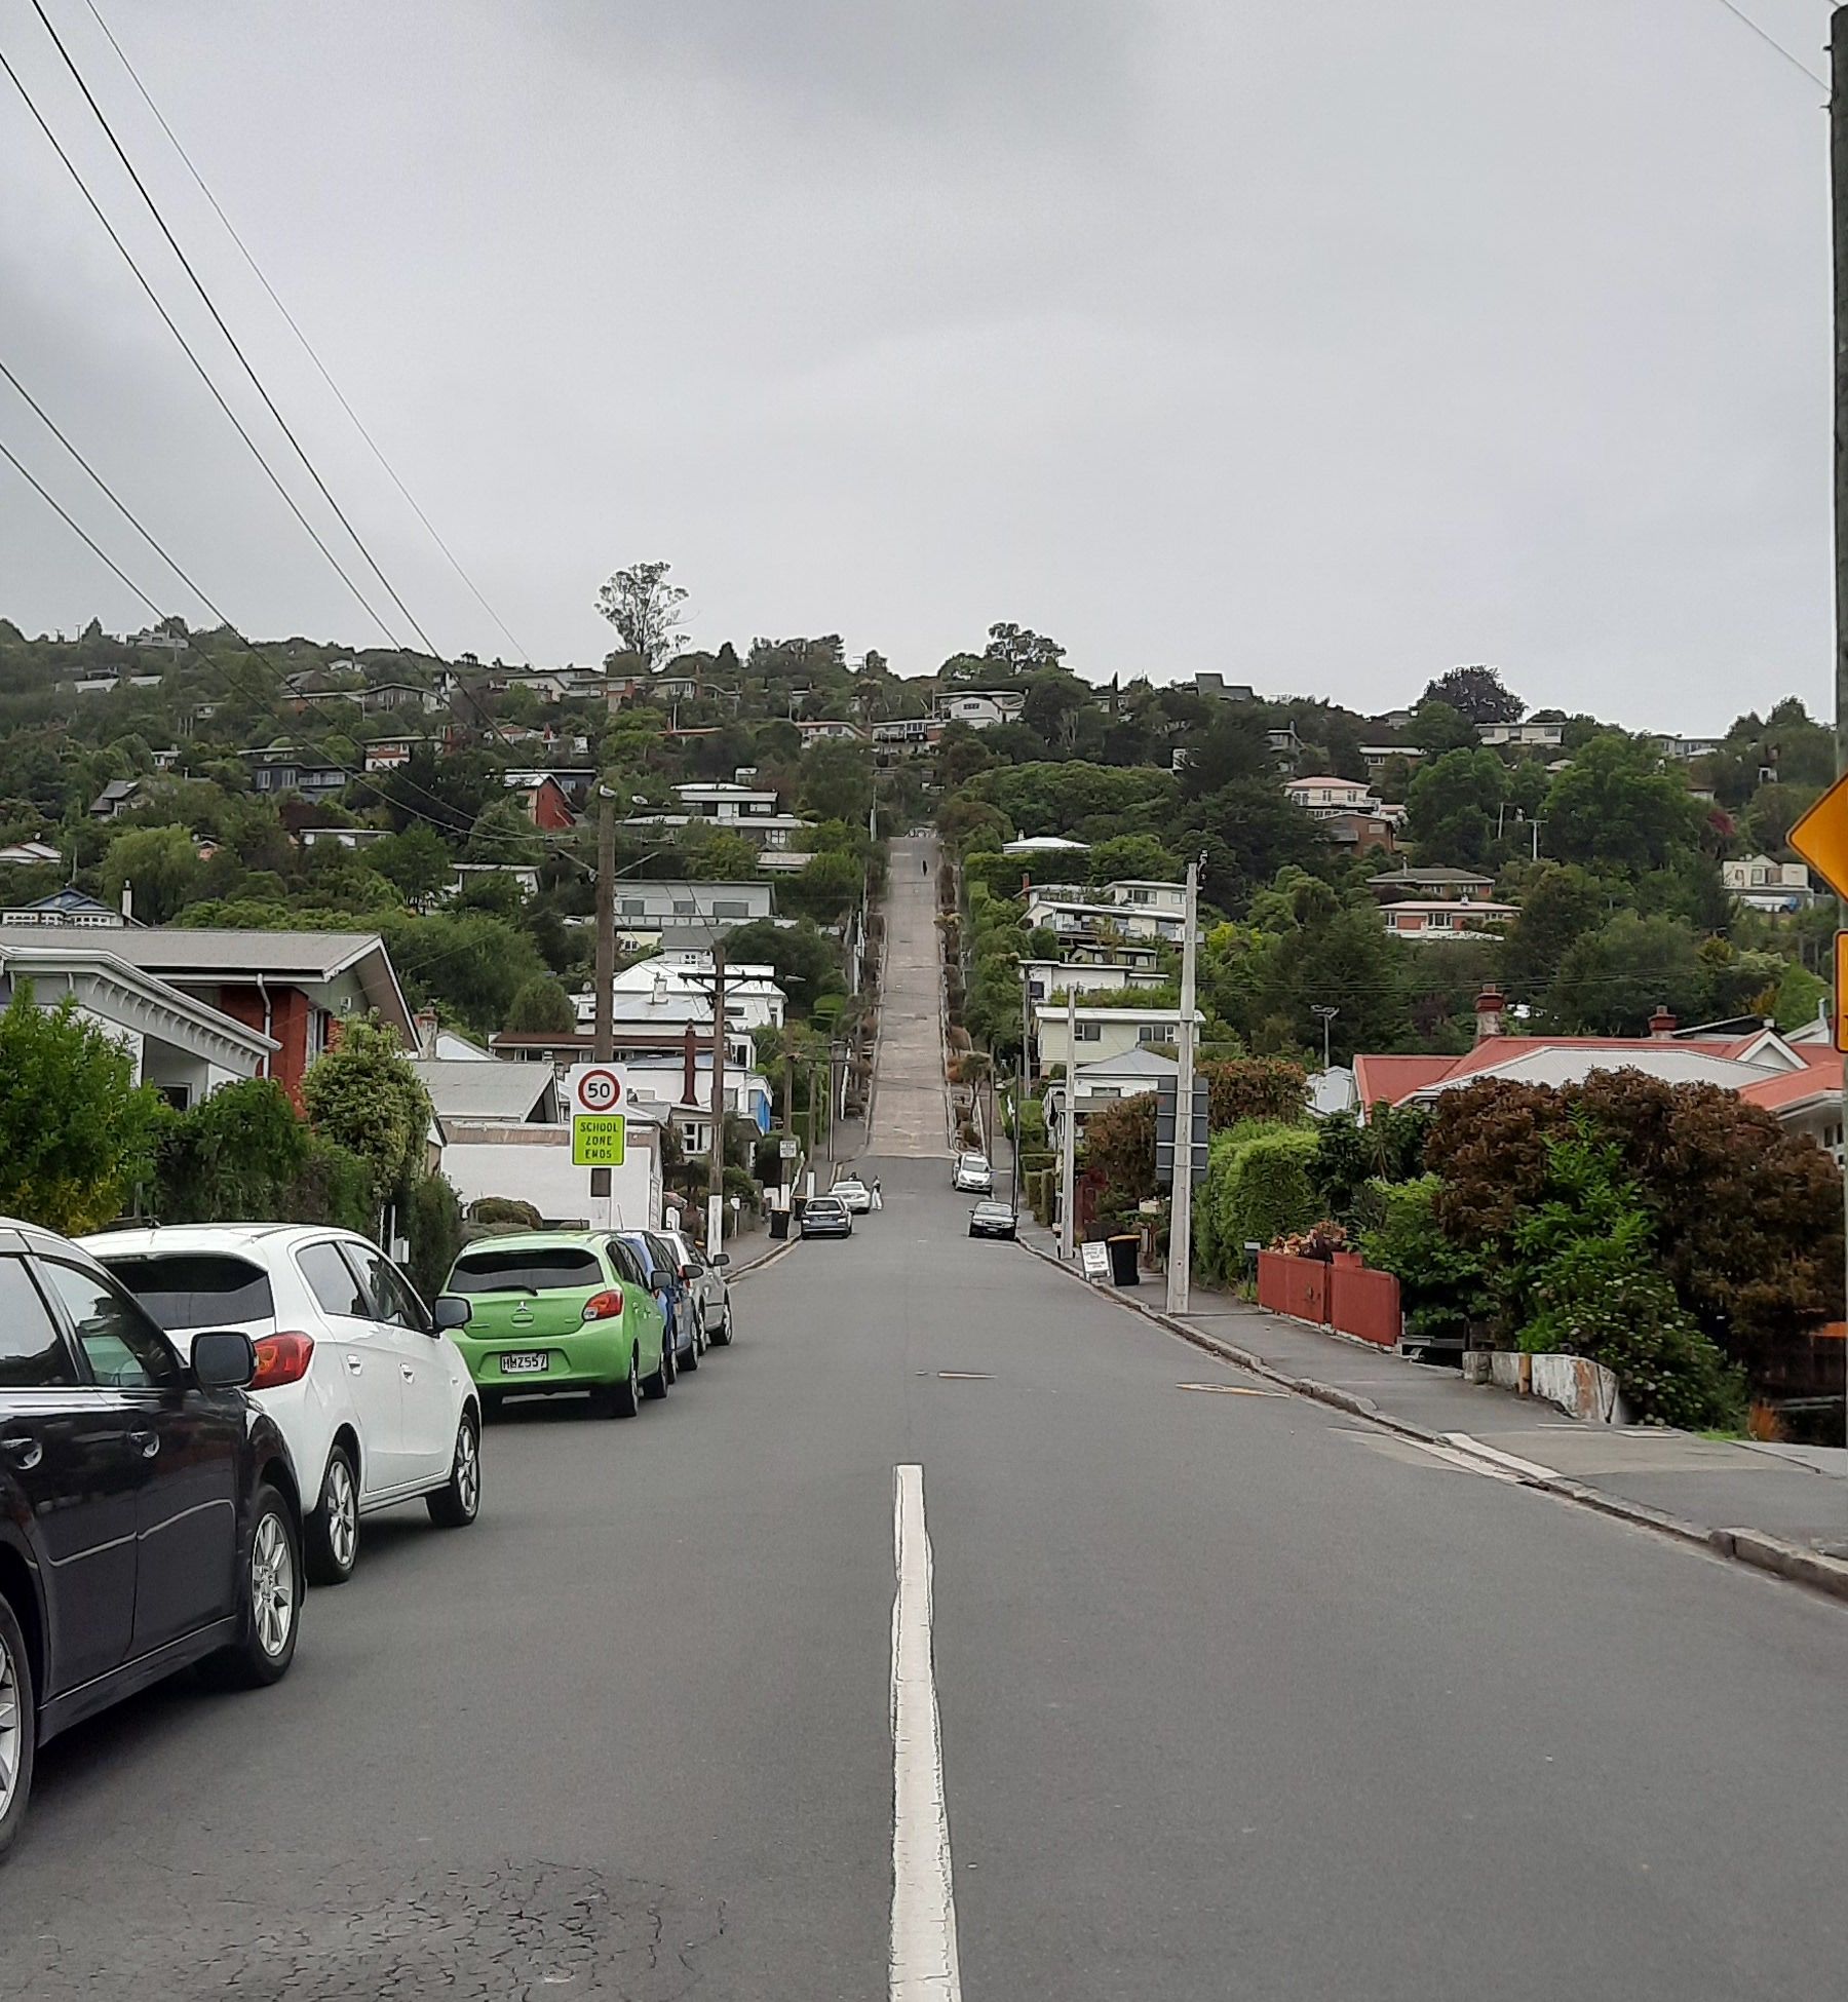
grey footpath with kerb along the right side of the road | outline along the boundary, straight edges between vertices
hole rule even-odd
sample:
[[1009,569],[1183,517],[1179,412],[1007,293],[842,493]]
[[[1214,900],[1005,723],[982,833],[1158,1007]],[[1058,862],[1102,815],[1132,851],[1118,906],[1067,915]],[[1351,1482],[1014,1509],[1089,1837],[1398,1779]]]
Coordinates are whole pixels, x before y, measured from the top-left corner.
[[[1057,1263],[1051,1231],[1023,1219],[1021,1245]],[[1063,1267],[1071,1271],[1071,1267]],[[1073,1275],[1073,1283],[1081,1283]],[[1596,1425],[1538,1397],[1464,1383],[1365,1341],[1195,1285],[1163,1311],[1163,1279],[1097,1285],[1173,1333],[1305,1397],[1582,1508],[1848,1600],[1848,1449],[1706,1439],[1662,1425]]]

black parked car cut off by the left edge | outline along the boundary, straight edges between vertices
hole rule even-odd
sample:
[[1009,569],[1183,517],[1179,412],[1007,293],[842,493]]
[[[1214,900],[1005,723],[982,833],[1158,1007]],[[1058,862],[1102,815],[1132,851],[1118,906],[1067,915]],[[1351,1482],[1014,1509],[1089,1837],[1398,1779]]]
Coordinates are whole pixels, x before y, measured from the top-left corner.
[[86,1251],[0,1219],[0,1860],[70,1724],[190,1662],[288,1670],[302,1510],[254,1373],[248,1335],[182,1363]]

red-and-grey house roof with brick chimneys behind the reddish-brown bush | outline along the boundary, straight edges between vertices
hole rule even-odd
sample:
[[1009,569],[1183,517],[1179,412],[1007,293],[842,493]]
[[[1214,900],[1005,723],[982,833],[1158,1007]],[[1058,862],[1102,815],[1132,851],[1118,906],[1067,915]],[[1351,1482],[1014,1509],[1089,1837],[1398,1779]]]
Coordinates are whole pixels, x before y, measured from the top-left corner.
[[1646,1037],[1510,1035],[1506,1025],[1508,1001],[1488,987],[1476,997],[1476,1047],[1466,1055],[1355,1057],[1361,1117],[1373,1105],[1434,1105],[1446,1091],[1482,1077],[1558,1087],[1576,1085],[1594,1071],[1642,1071],[1664,1085],[1736,1091],[1842,1161],[1842,1053],[1828,1039],[1826,1023],[1790,1035],[1768,1021],[1682,1029],[1674,1015],[1658,1009]]

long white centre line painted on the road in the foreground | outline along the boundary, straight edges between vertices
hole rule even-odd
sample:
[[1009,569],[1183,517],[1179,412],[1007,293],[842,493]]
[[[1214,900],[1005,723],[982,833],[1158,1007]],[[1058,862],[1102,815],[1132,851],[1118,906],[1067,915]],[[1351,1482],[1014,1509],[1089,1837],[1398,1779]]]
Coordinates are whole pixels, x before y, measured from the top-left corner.
[[893,1469],[891,1518],[899,1580],[891,1606],[891,2002],[961,2002],[923,1467]]

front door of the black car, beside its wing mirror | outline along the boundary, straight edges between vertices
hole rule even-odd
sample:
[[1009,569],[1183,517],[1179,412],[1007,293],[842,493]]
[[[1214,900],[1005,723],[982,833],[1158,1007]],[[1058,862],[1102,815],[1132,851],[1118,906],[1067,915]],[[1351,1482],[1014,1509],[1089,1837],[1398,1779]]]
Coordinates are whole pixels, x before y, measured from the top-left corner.
[[236,1612],[242,1401],[194,1387],[172,1343],[114,1279],[62,1259],[40,1259],[40,1271],[140,1461],[130,1654],[152,1654]]

